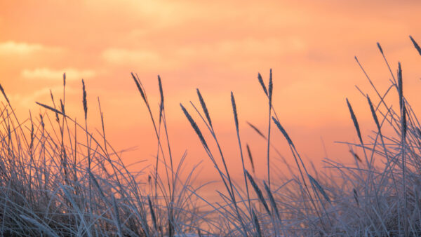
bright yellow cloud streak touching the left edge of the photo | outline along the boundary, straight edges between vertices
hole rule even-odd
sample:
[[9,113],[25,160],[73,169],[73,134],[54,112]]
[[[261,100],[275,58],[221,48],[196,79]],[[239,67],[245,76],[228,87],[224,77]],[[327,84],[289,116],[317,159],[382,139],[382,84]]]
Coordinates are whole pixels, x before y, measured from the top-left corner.
[[59,50],[58,48],[51,48],[43,46],[39,43],[25,43],[6,41],[0,43],[0,55],[28,55],[43,50]]

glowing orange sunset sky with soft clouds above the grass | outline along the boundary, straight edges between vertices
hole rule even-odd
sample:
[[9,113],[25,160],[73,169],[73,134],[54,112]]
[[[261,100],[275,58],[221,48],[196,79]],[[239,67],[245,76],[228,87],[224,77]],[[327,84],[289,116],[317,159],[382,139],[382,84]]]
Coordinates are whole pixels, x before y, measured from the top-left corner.
[[[201,90],[228,166],[239,174],[232,91],[242,148],[250,145],[257,175],[264,178],[265,141],[246,123],[267,133],[268,105],[258,72],[267,83],[273,70],[274,108],[306,161],[322,164],[328,156],[350,162],[348,147],[335,143],[357,141],[345,98],[363,136],[374,123],[355,86],[378,102],[354,56],[384,92],[391,76],[376,46],[380,42],[392,72],[402,63],[404,93],[417,111],[421,57],[408,36],[421,42],[420,11],[420,1],[0,1],[0,83],[26,118],[29,109],[44,111],[35,102],[51,104],[50,90],[62,97],[66,72],[67,114],[83,121],[83,79],[90,127],[100,128],[99,97],[109,142],[117,150],[135,147],[122,155],[124,162],[147,165],[154,163],[156,137],[131,72],[145,86],[155,117],[160,75],[173,156],[178,161],[187,150],[188,165],[203,161],[203,180],[215,172],[179,104],[205,130],[189,104],[199,105],[196,88]],[[210,141],[209,133],[205,137]],[[292,162],[274,127],[272,138]]]

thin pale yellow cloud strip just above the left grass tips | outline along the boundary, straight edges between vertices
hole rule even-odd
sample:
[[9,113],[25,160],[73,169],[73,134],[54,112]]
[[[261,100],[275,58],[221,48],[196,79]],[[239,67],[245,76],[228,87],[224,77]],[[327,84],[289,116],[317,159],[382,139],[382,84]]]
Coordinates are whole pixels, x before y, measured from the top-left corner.
[[96,75],[96,72],[91,69],[23,69],[21,75],[25,79],[45,79],[45,80],[62,80],[63,73],[66,73],[67,80],[88,79]]

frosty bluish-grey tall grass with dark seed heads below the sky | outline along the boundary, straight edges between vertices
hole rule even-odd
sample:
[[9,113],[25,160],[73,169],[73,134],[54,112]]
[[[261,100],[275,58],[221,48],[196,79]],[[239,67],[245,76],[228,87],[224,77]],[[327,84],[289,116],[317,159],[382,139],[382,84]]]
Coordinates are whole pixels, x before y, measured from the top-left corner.
[[[410,37],[415,50],[420,47]],[[272,104],[272,70],[266,86],[258,82],[268,99],[267,135],[248,123],[267,142],[267,180],[255,177],[253,157],[246,144],[253,172],[246,170],[239,123],[241,111],[231,94],[239,156],[244,183],[232,180],[227,160],[211,121],[211,111],[197,90],[199,111],[180,104],[218,171],[225,190],[210,202],[194,187],[196,167],[187,175],[183,164],[173,163],[168,137],[164,93],[158,77],[159,117],[154,118],[147,93],[136,74],[131,74],[149,112],[156,135],[156,161],[152,168],[129,172],[119,153],[107,142],[102,111],[102,130],[90,132],[85,83],[82,81],[84,123],[65,111],[65,74],[60,106],[37,102],[46,111],[20,121],[0,85],[4,102],[0,109],[0,234],[2,236],[420,236],[421,235],[421,126],[403,90],[402,66],[392,73],[385,52],[377,44],[392,79],[384,92],[375,88],[375,100],[365,93],[377,130],[365,137],[352,104],[346,100],[359,143],[348,144],[355,165],[328,158],[332,172],[310,172],[295,144],[281,125]],[[397,80],[396,80],[397,79]],[[385,102],[389,92],[399,95],[399,111]],[[256,95],[257,96],[257,95]],[[48,105],[52,104],[52,105]],[[98,99],[100,107],[100,100]],[[192,114],[192,112],[194,114]],[[193,116],[195,115],[195,116]],[[196,117],[196,118],[195,118]],[[199,126],[199,119],[203,126]],[[271,125],[274,128],[271,130]],[[392,135],[384,132],[392,129]],[[209,133],[210,140],[203,136]],[[296,170],[290,177],[271,175],[270,151],[276,146],[271,133],[285,137]],[[81,138],[83,137],[83,138]],[[369,140],[369,142],[368,142]],[[217,150],[208,144],[216,144]],[[164,148],[165,147],[165,148]],[[361,158],[356,151],[363,151]],[[244,151],[245,152],[245,151]],[[381,165],[375,163],[380,158]],[[163,167],[159,168],[160,165]],[[274,166],[275,165],[275,166]],[[163,172],[158,172],[163,170]],[[147,182],[142,182],[147,178]],[[185,177],[185,178],[182,178]],[[250,184],[250,186],[249,186]],[[250,187],[250,189],[249,189]]]

